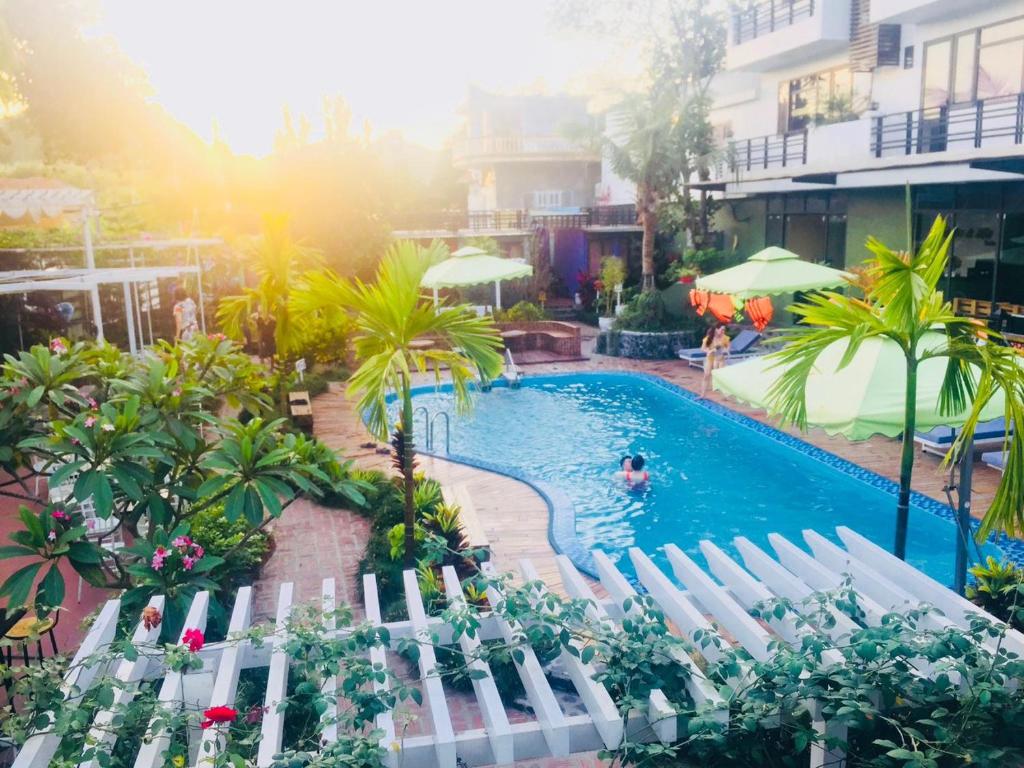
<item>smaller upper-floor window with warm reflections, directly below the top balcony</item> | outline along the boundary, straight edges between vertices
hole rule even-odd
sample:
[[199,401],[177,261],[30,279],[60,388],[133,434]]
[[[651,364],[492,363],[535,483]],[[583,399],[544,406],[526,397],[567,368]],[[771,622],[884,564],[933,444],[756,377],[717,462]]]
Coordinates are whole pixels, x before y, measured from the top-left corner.
[[857,118],[853,72],[828,70],[779,84],[779,133]]

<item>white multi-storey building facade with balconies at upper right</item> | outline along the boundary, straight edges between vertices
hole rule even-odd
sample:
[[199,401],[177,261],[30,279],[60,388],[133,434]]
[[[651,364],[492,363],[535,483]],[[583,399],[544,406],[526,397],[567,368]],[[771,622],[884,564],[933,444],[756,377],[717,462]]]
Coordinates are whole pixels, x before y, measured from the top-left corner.
[[713,122],[742,253],[854,265],[869,234],[902,248],[941,213],[947,296],[1024,314],[1021,0],[758,0],[730,18]]

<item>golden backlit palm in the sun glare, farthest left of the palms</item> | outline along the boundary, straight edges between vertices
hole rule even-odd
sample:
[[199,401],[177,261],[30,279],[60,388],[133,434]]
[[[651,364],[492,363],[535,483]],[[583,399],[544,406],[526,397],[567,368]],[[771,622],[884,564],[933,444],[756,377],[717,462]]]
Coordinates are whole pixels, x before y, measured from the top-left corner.
[[292,240],[287,216],[266,214],[262,234],[252,255],[250,264],[259,282],[255,288],[245,288],[241,294],[222,298],[217,306],[217,321],[225,334],[238,340],[245,336],[247,328],[259,332],[253,327],[254,314],[264,322],[272,321],[271,362],[276,365],[281,357],[295,352],[301,343],[301,324],[292,316],[289,298],[301,270],[319,263],[319,254]]

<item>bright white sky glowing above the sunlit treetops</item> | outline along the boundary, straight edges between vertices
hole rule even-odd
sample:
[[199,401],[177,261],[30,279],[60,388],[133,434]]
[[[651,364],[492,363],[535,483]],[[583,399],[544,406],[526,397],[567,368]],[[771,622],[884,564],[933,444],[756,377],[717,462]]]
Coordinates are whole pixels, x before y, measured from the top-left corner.
[[[155,98],[204,138],[216,121],[239,153],[271,148],[288,104],[319,124],[324,95],[353,128],[437,146],[471,83],[586,89],[620,75],[608,46],[552,28],[551,0],[102,0],[97,32],[147,73]],[[614,68],[614,70],[612,70]]]

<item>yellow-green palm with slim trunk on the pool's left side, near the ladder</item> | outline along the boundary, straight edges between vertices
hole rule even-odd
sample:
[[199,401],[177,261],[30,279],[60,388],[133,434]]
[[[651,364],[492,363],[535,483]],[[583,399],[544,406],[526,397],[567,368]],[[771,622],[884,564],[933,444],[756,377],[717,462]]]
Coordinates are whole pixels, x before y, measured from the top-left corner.
[[502,367],[501,337],[489,318],[477,317],[464,306],[438,312],[420,289],[426,268],[446,255],[441,243],[425,248],[402,241],[385,254],[373,283],[311,272],[293,301],[299,313],[336,313],[343,307],[354,314],[355,354],[361,365],[349,380],[348,395],[358,398],[356,407],[375,438],[390,436],[388,397],[401,403],[394,443],[404,489],[408,565],[415,563],[416,550],[413,373],[432,372],[439,382],[446,368],[456,407],[464,412],[471,404],[470,385],[477,378],[498,376]]

